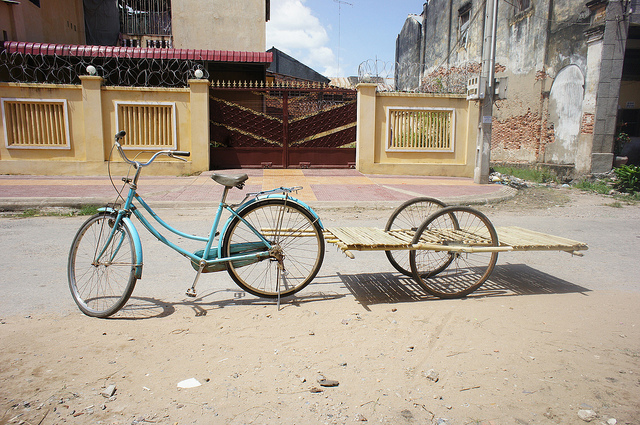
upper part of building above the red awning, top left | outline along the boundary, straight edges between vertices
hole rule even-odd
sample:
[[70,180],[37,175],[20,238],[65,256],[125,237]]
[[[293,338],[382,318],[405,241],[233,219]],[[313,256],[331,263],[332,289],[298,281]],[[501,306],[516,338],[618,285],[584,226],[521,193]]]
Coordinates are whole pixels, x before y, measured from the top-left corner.
[[270,0],[1,0],[3,41],[264,52]]

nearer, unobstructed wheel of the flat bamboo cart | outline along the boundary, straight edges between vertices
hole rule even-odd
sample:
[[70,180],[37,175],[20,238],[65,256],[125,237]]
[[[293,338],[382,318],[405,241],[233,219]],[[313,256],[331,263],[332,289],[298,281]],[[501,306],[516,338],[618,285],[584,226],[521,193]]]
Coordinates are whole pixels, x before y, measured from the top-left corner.
[[[421,240],[433,242],[434,233],[440,235],[438,242],[444,245],[499,246],[498,235],[491,221],[469,207],[448,207],[435,213],[418,228],[413,243]],[[452,261],[438,275],[421,271],[430,269],[429,263],[435,251],[415,250],[409,254],[416,282],[439,298],[460,298],[475,291],[487,280],[498,260],[496,251],[442,252],[448,252]]]

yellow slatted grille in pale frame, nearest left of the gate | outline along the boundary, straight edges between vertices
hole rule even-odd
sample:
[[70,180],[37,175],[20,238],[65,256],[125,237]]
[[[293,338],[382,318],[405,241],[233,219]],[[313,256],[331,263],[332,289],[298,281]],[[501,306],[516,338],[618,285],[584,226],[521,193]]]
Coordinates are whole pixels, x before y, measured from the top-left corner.
[[116,102],[116,109],[116,127],[127,132],[123,148],[176,149],[174,103]]

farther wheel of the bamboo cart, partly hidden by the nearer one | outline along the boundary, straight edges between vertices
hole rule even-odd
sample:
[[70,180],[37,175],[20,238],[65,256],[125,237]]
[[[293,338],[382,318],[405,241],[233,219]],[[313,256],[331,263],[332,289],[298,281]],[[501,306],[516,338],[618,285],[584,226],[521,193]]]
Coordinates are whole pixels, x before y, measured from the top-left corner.
[[[442,208],[446,208],[446,206],[444,202],[435,198],[420,197],[409,199],[395,209],[389,217],[389,220],[387,220],[384,230],[406,229],[415,232],[430,215]],[[393,250],[385,251],[384,253],[394,269],[405,276],[411,277],[413,275],[411,265],[409,264],[409,253],[407,251]],[[442,270],[447,268],[451,262],[450,260],[448,255],[443,255],[443,264],[439,268]],[[433,272],[435,274],[438,270],[434,270]]]

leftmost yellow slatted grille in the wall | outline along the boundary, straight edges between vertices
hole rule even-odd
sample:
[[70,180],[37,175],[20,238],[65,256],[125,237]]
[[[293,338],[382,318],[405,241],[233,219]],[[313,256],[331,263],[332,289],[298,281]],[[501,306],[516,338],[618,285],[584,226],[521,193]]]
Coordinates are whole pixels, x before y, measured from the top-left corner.
[[7,148],[69,149],[65,99],[2,99]]

